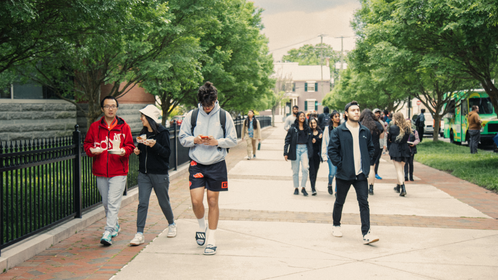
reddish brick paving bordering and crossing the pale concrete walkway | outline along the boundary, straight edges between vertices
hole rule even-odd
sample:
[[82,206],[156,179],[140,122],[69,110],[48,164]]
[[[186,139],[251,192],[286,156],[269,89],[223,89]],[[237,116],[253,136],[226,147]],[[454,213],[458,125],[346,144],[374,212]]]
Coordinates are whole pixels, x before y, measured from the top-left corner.
[[[264,139],[271,134],[273,129],[276,128],[263,130],[262,138]],[[245,145],[246,143],[243,142],[230,149],[226,160],[228,170],[246,156]],[[388,157],[384,157],[384,159],[389,161]],[[435,186],[483,213],[493,218],[498,218],[497,194],[419,163],[415,163],[414,175],[422,178],[422,181],[417,181],[416,184]],[[381,182],[391,183],[388,180],[382,180]],[[392,183],[395,184],[394,182]],[[189,209],[191,202],[187,186],[188,173],[173,180],[170,184],[169,194],[175,217],[195,218],[192,210]],[[167,228],[168,222],[162,214],[155,195],[152,195],[144,230],[146,243],[130,247],[128,245],[129,241],[136,232],[135,215],[137,205],[138,201],[135,201],[120,210],[120,224],[123,230],[117,238],[113,239],[112,246],[104,247],[100,244],[106,222],[104,218],[23,264],[0,274],[0,280],[110,279],[152,239]],[[221,209],[220,219],[331,223],[332,213]],[[498,229],[498,220],[479,218],[371,215],[371,222],[372,225],[386,226]],[[359,214],[343,213],[341,223],[360,224]],[[178,230],[181,231],[182,229],[179,228]]]

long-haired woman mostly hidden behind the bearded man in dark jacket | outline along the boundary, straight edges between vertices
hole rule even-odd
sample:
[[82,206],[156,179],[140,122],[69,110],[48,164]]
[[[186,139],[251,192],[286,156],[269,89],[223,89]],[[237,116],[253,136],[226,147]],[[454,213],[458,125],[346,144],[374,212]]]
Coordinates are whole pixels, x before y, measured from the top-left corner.
[[380,139],[384,138],[384,127],[382,126],[382,124],[380,124],[380,122],[378,122],[377,116],[375,116],[375,114],[369,109],[365,109],[362,111],[359,121],[363,126],[366,126],[370,130],[370,134],[372,134],[373,148],[375,149],[373,151],[372,160],[370,160],[370,174],[368,178],[369,194],[373,195],[373,183],[375,182],[375,162],[380,156],[380,153],[382,153],[382,150],[380,150]]

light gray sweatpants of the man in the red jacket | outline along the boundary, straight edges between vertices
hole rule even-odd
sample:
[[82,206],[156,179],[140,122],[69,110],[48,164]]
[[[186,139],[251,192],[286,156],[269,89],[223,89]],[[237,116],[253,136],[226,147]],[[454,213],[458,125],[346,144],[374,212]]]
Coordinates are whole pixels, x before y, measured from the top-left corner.
[[105,230],[114,231],[118,224],[118,213],[123,199],[126,176],[97,177],[97,187],[102,195],[102,205],[106,211],[107,223]]

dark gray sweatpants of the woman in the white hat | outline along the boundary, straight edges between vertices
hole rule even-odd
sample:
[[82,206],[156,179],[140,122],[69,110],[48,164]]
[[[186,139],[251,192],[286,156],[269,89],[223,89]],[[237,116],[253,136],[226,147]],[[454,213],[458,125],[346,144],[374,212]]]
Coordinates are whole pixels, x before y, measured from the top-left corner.
[[147,219],[147,210],[149,209],[150,193],[154,192],[159,201],[162,213],[168,220],[169,224],[175,222],[173,210],[169,203],[169,175],[168,174],[145,174],[138,173],[138,210],[136,214],[136,231],[143,232],[145,220]]

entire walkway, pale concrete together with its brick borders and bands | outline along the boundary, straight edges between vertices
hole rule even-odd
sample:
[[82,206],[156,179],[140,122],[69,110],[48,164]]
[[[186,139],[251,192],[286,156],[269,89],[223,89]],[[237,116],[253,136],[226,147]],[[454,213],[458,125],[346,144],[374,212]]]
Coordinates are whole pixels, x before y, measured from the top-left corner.
[[99,244],[103,219],[0,274],[0,280],[496,278],[497,194],[415,163],[417,180],[407,183],[406,197],[399,197],[392,191],[394,168],[383,157],[379,175],[384,180],[376,181],[375,195],[369,197],[372,231],[380,241],[361,243],[354,190],[341,221],[344,237],[333,237],[328,167],[320,166],[317,196],[293,195],[290,162],[282,155],[285,131],[277,125],[262,132],[256,160],[244,158],[245,143],[230,149],[216,255],[202,255],[195,242],[198,225],[186,174],[170,184],[179,217],[175,238],[161,234],[167,221],[152,195],[145,244],[128,246],[136,231],[135,201],[122,207],[123,231],[112,246]]

